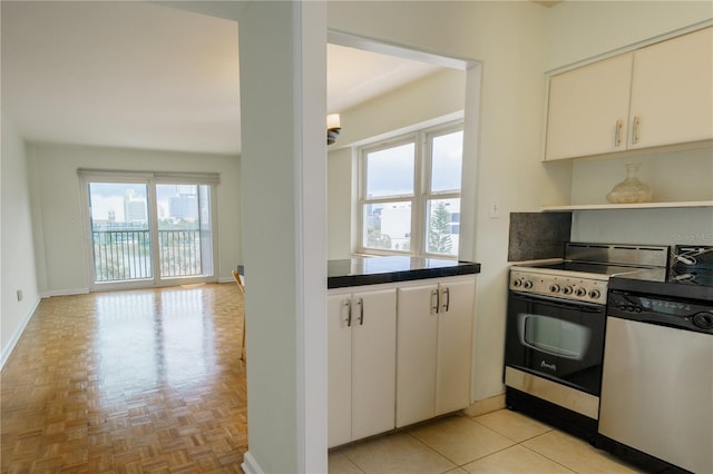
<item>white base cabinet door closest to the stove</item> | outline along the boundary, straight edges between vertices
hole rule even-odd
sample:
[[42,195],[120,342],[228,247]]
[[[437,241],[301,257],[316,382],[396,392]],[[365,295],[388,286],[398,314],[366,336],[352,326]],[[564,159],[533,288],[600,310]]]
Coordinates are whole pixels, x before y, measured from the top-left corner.
[[436,415],[470,404],[475,292],[475,278],[441,284]]

